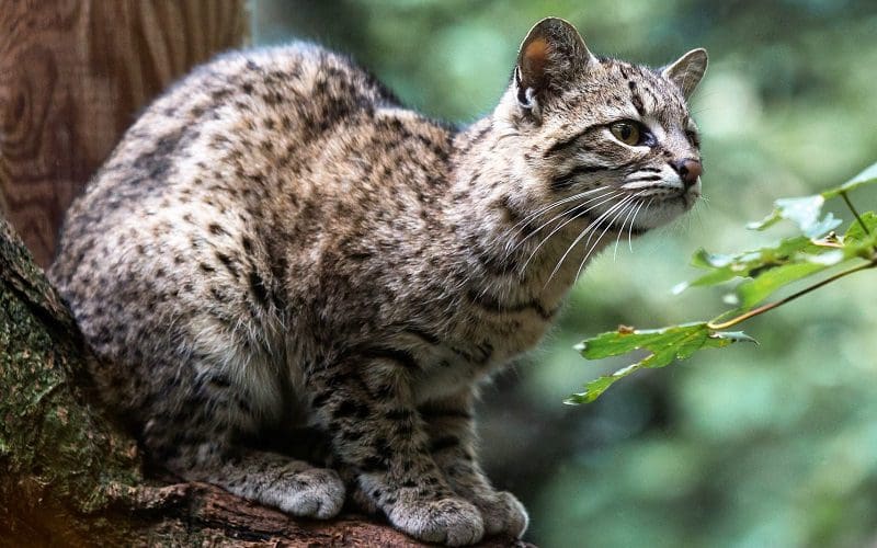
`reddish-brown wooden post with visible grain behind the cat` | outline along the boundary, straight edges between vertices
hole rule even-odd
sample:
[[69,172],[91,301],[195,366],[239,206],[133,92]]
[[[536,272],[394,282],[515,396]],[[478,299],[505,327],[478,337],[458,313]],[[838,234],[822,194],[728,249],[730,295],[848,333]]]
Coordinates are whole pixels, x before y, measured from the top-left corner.
[[0,208],[41,265],[137,113],[248,37],[246,0],[0,0]]

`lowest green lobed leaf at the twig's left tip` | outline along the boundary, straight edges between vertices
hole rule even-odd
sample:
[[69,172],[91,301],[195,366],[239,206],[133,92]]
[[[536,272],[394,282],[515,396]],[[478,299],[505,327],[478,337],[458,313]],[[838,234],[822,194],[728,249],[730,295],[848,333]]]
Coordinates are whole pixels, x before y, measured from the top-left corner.
[[634,330],[619,328],[617,331],[601,333],[583,341],[577,346],[588,359],[618,356],[635,350],[649,352],[645,358],[612,375],[604,375],[585,385],[584,391],[569,396],[565,402],[570,404],[590,403],[597,399],[615,381],[643,367],[664,367],[674,359],[686,359],[704,347],[721,347],[737,341],[751,341],[752,338],[740,331],[717,332],[706,322],[672,326],[663,329]]

